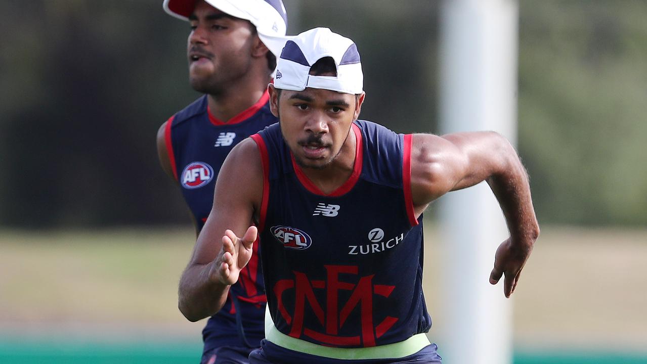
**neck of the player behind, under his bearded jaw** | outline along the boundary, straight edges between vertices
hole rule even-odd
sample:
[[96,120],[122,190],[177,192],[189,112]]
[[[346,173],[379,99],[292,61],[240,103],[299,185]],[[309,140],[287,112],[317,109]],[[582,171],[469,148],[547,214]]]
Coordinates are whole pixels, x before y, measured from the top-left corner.
[[208,94],[209,111],[212,116],[227,123],[234,116],[252,107],[267,91],[270,78],[239,80],[223,88],[218,94]]

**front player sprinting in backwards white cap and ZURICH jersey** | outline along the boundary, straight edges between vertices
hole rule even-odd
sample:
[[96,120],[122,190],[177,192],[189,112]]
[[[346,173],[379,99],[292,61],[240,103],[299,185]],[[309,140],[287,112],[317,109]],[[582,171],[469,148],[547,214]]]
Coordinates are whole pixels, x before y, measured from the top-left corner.
[[510,236],[489,278],[505,274],[506,297],[538,237],[527,174],[505,138],[357,120],[362,83],[351,39],[315,28],[287,41],[269,86],[280,123],[223,164],[179,306],[199,319],[225,305],[259,233],[269,313],[250,363],[440,363],[424,334],[422,213],[449,191],[485,180],[498,199]]

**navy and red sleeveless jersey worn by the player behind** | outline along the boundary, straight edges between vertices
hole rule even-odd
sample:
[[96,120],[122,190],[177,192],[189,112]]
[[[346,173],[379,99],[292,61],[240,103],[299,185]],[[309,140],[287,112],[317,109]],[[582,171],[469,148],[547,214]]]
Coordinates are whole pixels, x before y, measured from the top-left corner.
[[[166,123],[165,138],[171,167],[178,180],[184,200],[195,218],[197,230],[204,222],[214,202],[215,180],[226,156],[232,148],[267,125],[278,120],[269,107],[267,91],[246,111],[227,123],[220,122],[208,111],[207,96],[203,96],[172,116]],[[237,297],[232,305],[228,297],[225,306],[212,316],[203,330],[204,351],[223,345],[245,347],[239,334],[254,347],[264,337],[265,288],[258,259],[258,245],[254,244],[252,260],[241,272],[238,283],[230,288]],[[239,322],[236,323],[236,310]]]

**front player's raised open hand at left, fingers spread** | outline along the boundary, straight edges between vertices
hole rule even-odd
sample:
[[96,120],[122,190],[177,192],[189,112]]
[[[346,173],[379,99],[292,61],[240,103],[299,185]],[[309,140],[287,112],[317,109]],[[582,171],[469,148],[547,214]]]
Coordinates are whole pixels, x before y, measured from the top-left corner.
[[226,230],[223,248],[210,272],[212,277],[223,284],[236,283],[241,269],[245,268],[252,258],[252,246],[257,235],[256,226],[250,226],[242,238],[237,237],[234,231]]

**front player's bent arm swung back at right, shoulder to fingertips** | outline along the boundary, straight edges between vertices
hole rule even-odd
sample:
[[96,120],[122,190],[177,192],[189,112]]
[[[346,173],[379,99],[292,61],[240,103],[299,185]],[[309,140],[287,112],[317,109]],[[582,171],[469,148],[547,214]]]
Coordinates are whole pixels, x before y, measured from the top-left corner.
[[505,275],[503,294],[510,297],[539,236],[528,175],[514,147],[494,132],[413,135],[411,195],[417,215],[445,193],[484,180],[510,231],[496,252],[490,283]]

